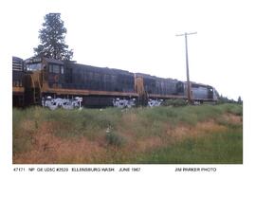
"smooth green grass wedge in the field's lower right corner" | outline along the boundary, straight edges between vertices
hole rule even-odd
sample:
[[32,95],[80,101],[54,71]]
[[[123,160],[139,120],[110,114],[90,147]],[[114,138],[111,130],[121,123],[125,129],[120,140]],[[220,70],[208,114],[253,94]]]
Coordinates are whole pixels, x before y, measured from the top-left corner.
[[243,134],[240,130],[212,133],[200,138],[189,137],[172,146],[143,153],[137,156],[137,163],[241,164]]

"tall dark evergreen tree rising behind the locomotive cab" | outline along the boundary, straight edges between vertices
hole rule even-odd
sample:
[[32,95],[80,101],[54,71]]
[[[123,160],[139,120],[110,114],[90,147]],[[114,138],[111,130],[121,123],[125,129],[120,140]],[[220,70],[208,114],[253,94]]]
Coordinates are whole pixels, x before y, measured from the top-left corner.
[[39,30],[41,44],[34,48],[35,56],[57,60],[71,60],[73,50],[68,50],[64,38],[66,28],[61,20],[61,13],[48,13],[43,28]]

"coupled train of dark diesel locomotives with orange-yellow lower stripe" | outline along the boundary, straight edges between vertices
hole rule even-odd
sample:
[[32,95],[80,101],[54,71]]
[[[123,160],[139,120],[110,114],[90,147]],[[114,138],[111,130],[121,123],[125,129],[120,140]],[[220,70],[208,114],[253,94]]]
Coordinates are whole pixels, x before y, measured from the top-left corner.
[[[187,83],[148,74],[48,58],[12,57],[13,106],[157,106],[165,99],[187,99]],[[216,90],[191,82],[194,102],[216,101]]]

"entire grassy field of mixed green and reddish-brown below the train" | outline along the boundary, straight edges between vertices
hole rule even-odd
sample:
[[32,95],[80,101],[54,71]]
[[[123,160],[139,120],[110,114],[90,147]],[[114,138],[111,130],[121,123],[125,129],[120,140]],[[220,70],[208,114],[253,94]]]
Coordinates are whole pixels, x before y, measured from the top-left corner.
[[[76,144],[85,138],[93,145],[88,147],[95,150],[89,158],[85,153],[76,156],[76,149],[70,148],[72,156],[61,156],[51,163],[65,159],[74,159],[69,163],[243,163],[243,122],[231,123],[224,117],[229,115],[243,120],[243,106],[206,104],[82,111],[13,108],[12,151],[13,156],[21,158],[31,151],[47,156],[40,148],[42,145],[61,147],[69,145],[69,141]],[[195,129],[198,123],[209,120],[223,126],[222,131],[207,130],[198,136],[185,135],[182,139],[167,133],[181,126]],[[44,135],[50,137],[46,139]],[[59,147],[47,154],[52,154],[51,158],[58,156]],[[82,145],[78,143],[77,147]]]

